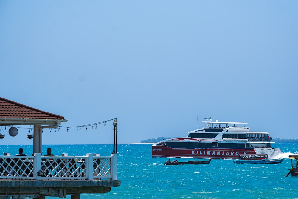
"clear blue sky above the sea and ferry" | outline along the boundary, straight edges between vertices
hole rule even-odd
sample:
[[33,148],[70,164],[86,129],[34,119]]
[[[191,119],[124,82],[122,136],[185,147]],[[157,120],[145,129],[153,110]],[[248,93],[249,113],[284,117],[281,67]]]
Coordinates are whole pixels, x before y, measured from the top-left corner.
[[[203,118],[298,138],[298,1],[0,0],[1,97],[118,143],[180,137]],[[197,124],[197,114],[198,121]],[[32,144],[19,129],[0,144]],[[113,142],[113,125],[43,132]]]

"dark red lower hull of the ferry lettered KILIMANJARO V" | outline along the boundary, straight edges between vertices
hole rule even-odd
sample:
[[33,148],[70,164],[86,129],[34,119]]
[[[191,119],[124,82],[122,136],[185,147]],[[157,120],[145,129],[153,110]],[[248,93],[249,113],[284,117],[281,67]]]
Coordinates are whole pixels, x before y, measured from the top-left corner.
[[173,149],[152,146],[152,157],[193,157],[212,159],[239,159],[239,155],[256,154],[254,149]]

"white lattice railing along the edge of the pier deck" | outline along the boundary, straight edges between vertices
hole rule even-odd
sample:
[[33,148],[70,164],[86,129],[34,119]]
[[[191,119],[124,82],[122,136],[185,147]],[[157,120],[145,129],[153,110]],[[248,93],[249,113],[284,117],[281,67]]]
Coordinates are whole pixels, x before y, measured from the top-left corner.
[[117,180],[117,154],[99,156],[44,157],[40,153],[34,156],[0,156],[1,179],[28,180]]

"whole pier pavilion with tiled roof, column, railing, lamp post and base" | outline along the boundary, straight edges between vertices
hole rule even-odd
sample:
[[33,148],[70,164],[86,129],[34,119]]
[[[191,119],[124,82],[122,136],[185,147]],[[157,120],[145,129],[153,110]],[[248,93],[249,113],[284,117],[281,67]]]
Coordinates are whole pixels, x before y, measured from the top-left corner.
[[[0,98],[1,127],[34,126],[32,135],[27,135],[27,138],[33,138],[32,156],[0,155],[0,198],[45,199],[46,196],[66,198],[71,195],[72,199],[80,199],[81,193],[106,193],[112,187],[120,186],[121,181],[117,180],[117,118],[113,120],[114,149],[110,156],[93,153],[42,156],[42,129],[58,128],[67,120]],[[18,131],[10,127],[9,134],[16,136]],[[0,139],[4,137],[0,131]]]

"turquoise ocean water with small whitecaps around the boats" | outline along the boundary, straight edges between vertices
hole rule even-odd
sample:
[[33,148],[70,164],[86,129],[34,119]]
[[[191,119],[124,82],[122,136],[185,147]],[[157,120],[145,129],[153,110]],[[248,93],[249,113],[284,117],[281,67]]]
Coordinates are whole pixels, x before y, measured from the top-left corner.
[[[280,164],[234,164],[233,160],[221,159],[201,165],[163,165],[167,158],[151,158],[151,144],[118,144],[117,179],[121,185],[105,194],[81,194],[81,198],[298,198],[298,178],[285,176],[291,168],[288,155],[298,152],[298,144],[273,146],[283,152],[277,157],[284,158]],[[0,154],[15,155],[19,147],[27,155],[33,151],[32,145],[0,145]],[[55,155],[105,156],[113,151],[112,144],[44,145],[44,153],[47,147]]]

